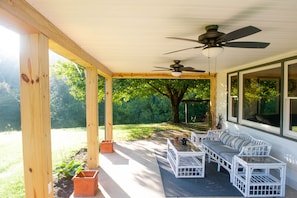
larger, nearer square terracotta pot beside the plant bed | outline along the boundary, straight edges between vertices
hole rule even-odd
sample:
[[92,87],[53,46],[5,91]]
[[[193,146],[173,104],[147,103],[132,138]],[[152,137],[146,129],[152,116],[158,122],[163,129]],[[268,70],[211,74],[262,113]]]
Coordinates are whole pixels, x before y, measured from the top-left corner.
[[72,178],[75,197],[95,196],[98,192],[98,171],[84,170]]

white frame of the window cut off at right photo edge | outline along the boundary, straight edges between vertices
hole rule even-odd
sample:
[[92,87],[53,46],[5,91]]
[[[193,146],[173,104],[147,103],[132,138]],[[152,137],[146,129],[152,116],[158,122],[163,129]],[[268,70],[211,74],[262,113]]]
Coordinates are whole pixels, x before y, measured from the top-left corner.
[[290,138],[297,138],[297,133],[289,129],[290,118],[290,101],[297,100],[297,97],[288,96],[288,67],[289,65],[297,64],[297,60],[286,61],[284,64],[284,108],[283,108],[283,135]]

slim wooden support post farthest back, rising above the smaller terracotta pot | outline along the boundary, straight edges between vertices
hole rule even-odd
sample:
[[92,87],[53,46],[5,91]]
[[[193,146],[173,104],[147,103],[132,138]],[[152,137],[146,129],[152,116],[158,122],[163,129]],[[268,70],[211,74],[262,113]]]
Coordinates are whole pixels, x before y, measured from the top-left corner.
[[105,139],[112,140],[112,78],[105,78]]

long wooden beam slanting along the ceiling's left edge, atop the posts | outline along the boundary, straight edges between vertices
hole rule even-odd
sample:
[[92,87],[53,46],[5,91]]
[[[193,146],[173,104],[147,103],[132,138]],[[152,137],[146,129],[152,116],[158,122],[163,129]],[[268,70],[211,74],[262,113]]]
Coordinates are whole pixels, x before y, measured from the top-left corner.
[[[50,39],[50,49],[84,67],[95,67],[100,75],[111,76],[112,72],[101,62],[84,51],[78,44],[59,30],[26,1],[0,1],[0,14],[11,22],[16,30],[41,32]],[[9,15],[10,14],[10,15]],[[0,15],[0,16],[1,16]],[[7,22],[5,22],[6,24]],[[6,24],[6,26],[9,26]]]

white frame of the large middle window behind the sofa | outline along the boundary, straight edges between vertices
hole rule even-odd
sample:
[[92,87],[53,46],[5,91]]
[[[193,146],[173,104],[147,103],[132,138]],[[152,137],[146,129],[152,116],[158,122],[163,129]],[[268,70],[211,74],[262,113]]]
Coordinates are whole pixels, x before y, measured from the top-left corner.
[[276,63],[273,65],[268,65],[265,67],[258,67],[255,69],[249,69],[245,71],[239,72],[239,113],[238,113],[238,122],[239,124],[243,124],[252,128],[257,128],[260,130],[268,131],[277,135],[280,135],[280,127],[275,127],[271,126],[268,124],[262,124],[262,123],[257,123],[249,120],[245,120],[242,118],[242,113],[243,113],[243,75],[248,74],[251,72],[257,72],[257,71],[263,71],[263,70],[268,70],[268,69],[274,69],[274,68],[281,68],[281,63]]

